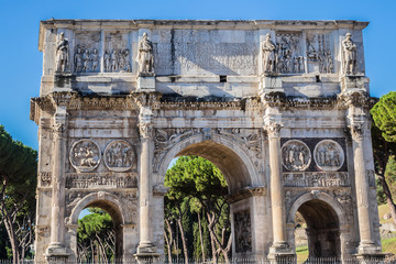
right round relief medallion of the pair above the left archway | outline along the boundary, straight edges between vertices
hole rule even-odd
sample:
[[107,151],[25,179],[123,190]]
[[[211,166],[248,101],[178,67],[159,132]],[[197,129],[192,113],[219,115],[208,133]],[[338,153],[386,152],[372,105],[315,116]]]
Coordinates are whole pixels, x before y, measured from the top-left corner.
[[127,172],[133,166],[133,162],[134,152],[127,141],[112,141],[105,150],[105,164],[111,170]]

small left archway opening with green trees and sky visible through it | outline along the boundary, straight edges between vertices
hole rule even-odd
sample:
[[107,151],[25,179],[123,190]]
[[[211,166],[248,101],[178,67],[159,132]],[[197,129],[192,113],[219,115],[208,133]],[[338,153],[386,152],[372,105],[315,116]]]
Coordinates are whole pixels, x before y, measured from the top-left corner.
[[116,263],[122,260],[122,218],[106,200],[87,205],[79,215],[77,263]]

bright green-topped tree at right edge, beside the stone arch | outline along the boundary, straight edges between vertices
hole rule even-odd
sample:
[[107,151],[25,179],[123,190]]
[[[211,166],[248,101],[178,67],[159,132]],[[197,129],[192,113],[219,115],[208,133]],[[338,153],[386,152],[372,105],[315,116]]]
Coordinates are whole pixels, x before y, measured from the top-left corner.
[[372,127],[375,174],[396,224],[396,205],[387,183],[388,162],[396,151],[396,92],[383,96],[370,112],[375,123]]

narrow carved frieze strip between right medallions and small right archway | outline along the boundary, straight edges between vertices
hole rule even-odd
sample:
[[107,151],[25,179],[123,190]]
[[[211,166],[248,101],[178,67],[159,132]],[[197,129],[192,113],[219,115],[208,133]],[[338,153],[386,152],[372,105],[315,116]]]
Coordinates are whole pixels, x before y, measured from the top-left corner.
[[284,173],[284,186],[287,187],[344,187],[350,186],[348,173],[312,172]]

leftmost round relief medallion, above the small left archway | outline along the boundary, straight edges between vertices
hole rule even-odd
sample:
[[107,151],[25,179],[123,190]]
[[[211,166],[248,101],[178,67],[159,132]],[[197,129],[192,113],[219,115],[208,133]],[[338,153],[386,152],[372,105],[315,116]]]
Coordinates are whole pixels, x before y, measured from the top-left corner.
[[100,148],[91,140],[79,140],[70,150],[70,163],[77,172],[86,173],[94,170],[100,163]]

